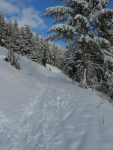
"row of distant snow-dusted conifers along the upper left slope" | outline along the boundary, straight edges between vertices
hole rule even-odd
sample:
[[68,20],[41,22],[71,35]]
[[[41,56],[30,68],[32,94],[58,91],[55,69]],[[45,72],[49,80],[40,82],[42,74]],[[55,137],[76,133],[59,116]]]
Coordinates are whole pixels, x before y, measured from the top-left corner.
[[0,13],[0,45],[8,49],[6,61],[17,69],[19,54],[25,55],[44,66],[46,63],[62,67],[63,48],[50,42],[47,38],[33,33],[29,25],[19,27],[18,21],[8,21]]

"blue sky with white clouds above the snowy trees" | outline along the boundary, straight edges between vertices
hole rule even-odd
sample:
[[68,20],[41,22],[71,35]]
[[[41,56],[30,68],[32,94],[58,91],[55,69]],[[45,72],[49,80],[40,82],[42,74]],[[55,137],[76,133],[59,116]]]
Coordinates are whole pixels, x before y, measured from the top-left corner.
[[[58,5],[55,0],[0,0],[0,11],[6,18],[17,18],[19,25],[29,24],[34,32],[47,36],[51,19],[43,17],[46,8]],[[113,0],[109,4],[113,8]],[[59,44],[64,45],[62,42]]]

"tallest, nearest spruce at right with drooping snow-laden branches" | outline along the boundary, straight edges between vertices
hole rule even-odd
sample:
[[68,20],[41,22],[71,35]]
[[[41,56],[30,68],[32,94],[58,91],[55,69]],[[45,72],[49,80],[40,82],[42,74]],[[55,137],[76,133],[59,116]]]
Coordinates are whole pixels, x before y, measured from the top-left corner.
[[46,16],[55,18],[54,23],[62,22],[50,28],[49,32],[54,33],[50,38],[65,39],[67,48],[71,41],[71,49],[67,51],[69,57],[65,58],[64,67],[82,86],[95,85],[106,80],[102,48],[106,43],[109,48],[110,42],[100,32],[102,27],[99,19],[103,16],[107,22],[111,22],[113,11],[106,9],[108,2],[65,0],[64,6],[50,7],[46,10]]

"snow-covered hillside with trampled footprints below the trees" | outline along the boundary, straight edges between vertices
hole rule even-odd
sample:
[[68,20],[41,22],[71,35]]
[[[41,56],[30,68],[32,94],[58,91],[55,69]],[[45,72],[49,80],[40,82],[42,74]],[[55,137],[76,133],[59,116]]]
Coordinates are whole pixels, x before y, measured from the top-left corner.
[[0,47],[0,150],[113,150],[113,106],[61,71]]

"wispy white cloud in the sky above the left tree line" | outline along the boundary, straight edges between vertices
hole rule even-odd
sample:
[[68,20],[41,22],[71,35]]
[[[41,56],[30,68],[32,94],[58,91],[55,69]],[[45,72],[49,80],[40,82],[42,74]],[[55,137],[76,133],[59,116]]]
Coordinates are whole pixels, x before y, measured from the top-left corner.
[[20,26],[28,24],[32,29],[46,27],[39,12],[33,7],[20,8],[19,5],[17,6],[14,3],[11,3],[10,0],[0,0],[0,11],[3,12],[6,17],[7,15],[10,15],[10,19],[16,18]]

